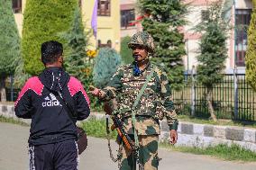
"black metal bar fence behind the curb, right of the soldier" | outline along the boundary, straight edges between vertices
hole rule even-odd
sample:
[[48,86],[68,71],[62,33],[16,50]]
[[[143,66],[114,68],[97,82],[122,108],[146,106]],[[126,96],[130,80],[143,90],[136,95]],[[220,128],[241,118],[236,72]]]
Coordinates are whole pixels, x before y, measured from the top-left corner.
[[[184,87],[172,91],[179,114],[209,118],[206,87],[197,83],[197,75],[185,75]],[[213,89],[212,101],[218,119],[256,120],[256,97],[244,74],[224,75]]]

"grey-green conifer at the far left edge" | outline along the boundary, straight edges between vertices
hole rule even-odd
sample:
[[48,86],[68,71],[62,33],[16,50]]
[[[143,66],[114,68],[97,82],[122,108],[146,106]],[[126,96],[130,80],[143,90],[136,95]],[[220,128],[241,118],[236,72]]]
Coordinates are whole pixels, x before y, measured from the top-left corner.
[[7,76],[14,75],[14,60],[19,58],[21,53],[12,1],[0,0],[0,2],[0,100],[5,102],[5,79]]

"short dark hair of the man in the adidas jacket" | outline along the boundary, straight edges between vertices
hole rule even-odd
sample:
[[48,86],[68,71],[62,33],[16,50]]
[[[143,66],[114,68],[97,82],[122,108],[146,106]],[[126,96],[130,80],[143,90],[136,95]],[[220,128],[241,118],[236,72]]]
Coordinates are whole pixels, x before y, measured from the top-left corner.
[[41,62],[52,64],[58,60],[63,53],[63,46],[55,40],[49,40],[41,44]]

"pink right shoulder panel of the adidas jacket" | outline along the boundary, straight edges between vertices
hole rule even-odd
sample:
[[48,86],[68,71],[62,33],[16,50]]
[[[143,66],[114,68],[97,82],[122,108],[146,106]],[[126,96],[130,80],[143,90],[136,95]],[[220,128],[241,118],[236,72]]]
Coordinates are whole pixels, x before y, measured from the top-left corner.
[[89,97],[88,97],[83,85],[77,78],[75,78],[74,76],[70,76],[68,87],[69,87],[69,92],[70,92],[71,96],[74,96],[79,91],[81,91],[82,94],[84,94],[85,99],[87,100],[88,106],[90,107]]

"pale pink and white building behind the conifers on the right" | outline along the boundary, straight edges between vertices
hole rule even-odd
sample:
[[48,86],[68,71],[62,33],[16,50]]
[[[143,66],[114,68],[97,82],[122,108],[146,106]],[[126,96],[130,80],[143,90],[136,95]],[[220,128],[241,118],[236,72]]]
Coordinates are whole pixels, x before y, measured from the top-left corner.
[[[187,56],[184,57],[184,65],[187,70],[197,66],[198,42],[200,34],[195,33],[193,28],[206,16],[207,6],[216,0],[182,0],[189,4],[189,14],[187,14],[187,25],[183,30],[185,33],[185,42]],[[231,24],[235,27],[247,27],[251,20],[251,0],[225,0],[229,2]],[[136,31],[142,30],[139,22],[140,14],[136,12],[136,0],[120,0],[121,5],[121,37],[131,36]],[[130,24],[135,21],[135,24]],[[137,21],[137,22],[136,22]],[[245,73],[245,52],[247,48],[246,30],[230,31],[229,40],[227,40],[228,58],[226,59],[226,73],[233,73],[233,68],[237,67],[239,73]]]

